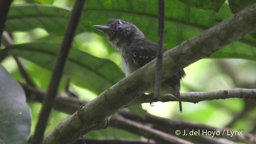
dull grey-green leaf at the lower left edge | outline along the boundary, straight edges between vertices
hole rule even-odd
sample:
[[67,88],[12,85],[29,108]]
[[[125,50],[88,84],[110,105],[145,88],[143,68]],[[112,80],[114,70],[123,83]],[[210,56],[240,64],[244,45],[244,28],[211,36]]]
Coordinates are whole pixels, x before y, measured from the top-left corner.
[[27,143],[30,137],[31,114],[25,93],[1,65],[0,98],[0,143]]

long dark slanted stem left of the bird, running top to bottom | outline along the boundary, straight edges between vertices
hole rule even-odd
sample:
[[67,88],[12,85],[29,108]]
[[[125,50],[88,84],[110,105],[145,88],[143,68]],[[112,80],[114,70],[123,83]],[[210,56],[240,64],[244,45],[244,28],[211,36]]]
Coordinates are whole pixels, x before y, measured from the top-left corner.
[[76,0],[75,6],[73,8],[73,12],[68,23],[68,28],[66,30],[66,34],[60,48],[60,52],[58,53],[56,65],[52,73],[52,78],[48,86],[48,91],[46,93],[46,96],[42,104],[38,122],[36,124],[34,138],[32,139],[32,144],[40,144],[42,142],[48,117],[52,109],[54,98],[57,94],[60,79],[64,70],[66,60],[68,58],[68,53],[70,51],[72,41],[76,32],[76,29],[78,27],[78,23],[79,23],[80,16],[82,14],[85,2],[86,0]]

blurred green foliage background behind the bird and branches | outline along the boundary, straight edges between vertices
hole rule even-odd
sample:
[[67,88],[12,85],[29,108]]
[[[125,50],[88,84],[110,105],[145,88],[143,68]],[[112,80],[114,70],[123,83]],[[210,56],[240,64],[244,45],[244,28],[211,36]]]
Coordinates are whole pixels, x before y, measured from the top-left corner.
[[[242,0],[229,0],[230,6],[228,2],[220,4],[218,13],[194,8],[178,0],[165,2],[164,46],[170,49],[227,19],[232,16],[232,12],[236,13],[255,3],[255,0],[246,0],[245,3]],[[14,0],[12,4],[5,30],[12,36],[14,45],[7,48],[1,47],[0,52],[22,57],[22,63],[39,88],[46,89],[48,86],[55,55],[62,42],[73,3],[74,0]],[[124,74],[120,69],[120,54],[111,48],[104,34],[92,26],[103,25],[109,18],[122,18],[138,26],[147,38],[157,42],[157,5],[157,0],[88,0],[59,92],[64,90],[66,76],[72,77],[71,86],[83,100],[92,100],[103,90],[121,80]],[[238,84],[232,75],[236,76],[240,82],[239,87],[255,88],[256,40],[254,34],[226,46],[211,58],[232,58],[232,60],[208,58],[191,64],[185,68],[187,76],[182,81],[182,92],[236,88]],[[220,63],[224,62],[232,66],[233,70],[225,71],[220,66]],[[1,65],[16,80],[24,82],[11,56],[1,62]],[[197,104],[183,102],[182,113],[178,110],[177,102],[157,102],[153,104],[154,107],[149,104],[142,104],[142,106],[157,116],[223,127],[242,112],[246,102],[242,99],[212,100]],[[29,106],[32,109],[33,134],[40,104],[29,103]],[[255,111],[255,107],[252,108]],[[143,113],[139,107],[132,109],[137,114]],[[249,126],[248,122],[256,120],[254,115],[248,112],[244,117],[237,119],[231,128],[249,132],[252,126]],[[67,117],[66,114],[52,110],[46,133]],[[254,123],[252,125],[255,126]],[[87,136],[137,137],[113,128],[90,132]]]

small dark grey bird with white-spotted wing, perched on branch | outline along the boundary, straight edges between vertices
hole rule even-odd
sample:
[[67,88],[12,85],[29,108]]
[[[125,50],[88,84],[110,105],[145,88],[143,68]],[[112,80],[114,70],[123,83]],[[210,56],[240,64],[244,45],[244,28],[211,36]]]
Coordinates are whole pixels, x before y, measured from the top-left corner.
[[[148,40],[134,24],[120,19],[110,19],[105,26],[93,27],[104,32],[112,47],[121,52],[122,68],[126,76],[156,58],[158,45]],[[164,49],[164,52],[166,51]],[[185,75],[184,70],[180,70],[162,82],[160,89],[160,95],[171,93],[179,99],[180,112],[180,80]],[[148,92],[154,92],[154,88],[150,88]]]

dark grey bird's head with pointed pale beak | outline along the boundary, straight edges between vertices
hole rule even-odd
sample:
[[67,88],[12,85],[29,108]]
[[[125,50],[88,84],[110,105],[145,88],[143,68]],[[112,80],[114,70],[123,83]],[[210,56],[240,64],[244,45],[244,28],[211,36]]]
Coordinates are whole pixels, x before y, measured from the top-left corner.
[[110,44],[117,50],[133,40],[144,38],[144,34],[137,26],[120,19],[110,19],[105,26],[94,25],[93,27],[104,32]]

